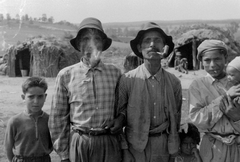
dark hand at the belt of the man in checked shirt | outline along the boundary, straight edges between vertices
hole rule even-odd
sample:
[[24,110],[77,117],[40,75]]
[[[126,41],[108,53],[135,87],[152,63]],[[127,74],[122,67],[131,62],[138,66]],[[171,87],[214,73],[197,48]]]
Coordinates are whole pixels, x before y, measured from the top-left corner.
[[108,122],[103,127],[105,129],[110,129],[112,134],[120,133],[123,129],[124,115],[120,114],[116,119]]

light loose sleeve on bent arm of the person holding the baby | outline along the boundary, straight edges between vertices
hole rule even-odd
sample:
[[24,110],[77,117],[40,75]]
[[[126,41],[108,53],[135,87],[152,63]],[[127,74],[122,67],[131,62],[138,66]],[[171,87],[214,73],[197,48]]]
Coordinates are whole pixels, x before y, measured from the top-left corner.
[[202,130],[212,128],[223,115],[219,109],[223,95],[208,103],[209,95],[204,92],[204,89],[201,89],[196,81],[193,81],[188,89],[189,118],[193,124]]

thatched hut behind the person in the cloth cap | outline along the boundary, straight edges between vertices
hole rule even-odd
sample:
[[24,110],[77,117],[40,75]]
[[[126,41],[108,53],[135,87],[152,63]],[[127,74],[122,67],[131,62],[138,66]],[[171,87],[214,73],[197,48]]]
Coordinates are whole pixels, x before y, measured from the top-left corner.
[[175,49],[169,60],[169,66],[174,66],[175,55],[177,52],[180,52],[182,57],[187,58],[189,70],[201,69],[201,63],[196,57],[197,47],[206,39],[218,39],[225,42],[229,52],[228,61],[240,54],[239,44],[235,42],[227,31],[208,26],[207,28],[189,30],[176,39]]

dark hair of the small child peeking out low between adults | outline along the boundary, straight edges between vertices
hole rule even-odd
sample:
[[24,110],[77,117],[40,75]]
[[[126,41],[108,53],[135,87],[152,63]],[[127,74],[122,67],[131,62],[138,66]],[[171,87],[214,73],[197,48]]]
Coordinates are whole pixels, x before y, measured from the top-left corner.
[[200,133],[195,125],[192,123],[187,123],[188,124],[188,131],[187,133],[184,132],[184,130],[181,130],[179,133],[179,138],[180,141],[182,142],[186,137],[192,138],[196,144],[198,145],[200,142]]

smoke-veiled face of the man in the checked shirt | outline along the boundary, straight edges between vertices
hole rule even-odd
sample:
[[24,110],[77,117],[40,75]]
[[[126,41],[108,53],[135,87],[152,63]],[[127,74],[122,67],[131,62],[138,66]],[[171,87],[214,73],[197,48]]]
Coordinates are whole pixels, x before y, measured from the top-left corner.
[[78,42],[78,48],[87,64],[93,65],[100,60],[104,40],[98,32],[95,30],[85,30]]

